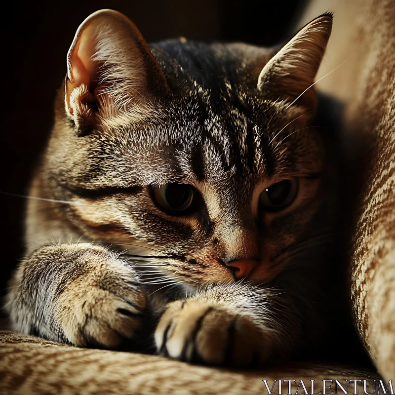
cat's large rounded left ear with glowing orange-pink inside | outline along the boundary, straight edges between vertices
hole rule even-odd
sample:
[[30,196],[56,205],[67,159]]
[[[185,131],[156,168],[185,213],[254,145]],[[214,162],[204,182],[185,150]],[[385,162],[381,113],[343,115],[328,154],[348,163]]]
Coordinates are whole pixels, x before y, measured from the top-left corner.
[[79,135],[125,114],[143,114],[167,90],[150,48],[126,16],[106,9],[82,22],[67,54],[65,81],[66,113]]

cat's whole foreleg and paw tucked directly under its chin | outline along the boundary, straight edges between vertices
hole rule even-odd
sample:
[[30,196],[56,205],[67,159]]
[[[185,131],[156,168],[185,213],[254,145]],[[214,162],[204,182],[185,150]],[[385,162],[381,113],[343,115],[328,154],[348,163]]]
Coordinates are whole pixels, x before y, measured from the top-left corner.
[[300,324],[290,310],[271,290],[237,283],[212,286],[168,304],[155,332],[156,346],[180,360],[259,364],[295,345]]

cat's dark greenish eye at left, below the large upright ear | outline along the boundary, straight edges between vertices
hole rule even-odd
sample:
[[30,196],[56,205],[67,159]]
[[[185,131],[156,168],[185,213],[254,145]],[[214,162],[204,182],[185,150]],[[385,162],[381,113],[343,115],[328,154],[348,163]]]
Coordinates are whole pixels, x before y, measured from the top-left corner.
[[155,201],[167,211],[185,211],[194,199],[194,189],[188,184],[169,183],[153,187]]

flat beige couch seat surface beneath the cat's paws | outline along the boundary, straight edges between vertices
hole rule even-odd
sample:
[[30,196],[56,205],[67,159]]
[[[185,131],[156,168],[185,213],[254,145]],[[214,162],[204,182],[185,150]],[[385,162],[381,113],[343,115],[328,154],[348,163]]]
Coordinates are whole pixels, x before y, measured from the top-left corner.
[[[270,388],[276,379],[295,379],[298,384],[304,380],[309,386],[310,380],[316,379],[316,393],[322,391],[324,379],[339,380],[343,385],[346,379],[367,380],[372,393],[373,380],[378,377],[367,371],[307,363],[232,371],[159,356],[80,349],[0,332],[0,394],[267,394],[263,379]],[[293,383],[293,393],[296,388]],[[277,384],[275,389],[274,394],[278,393]],[[288,393],[287,384],[283,384],[283,393]],[[353,393],[354,384],[350,384],[349,394]]]

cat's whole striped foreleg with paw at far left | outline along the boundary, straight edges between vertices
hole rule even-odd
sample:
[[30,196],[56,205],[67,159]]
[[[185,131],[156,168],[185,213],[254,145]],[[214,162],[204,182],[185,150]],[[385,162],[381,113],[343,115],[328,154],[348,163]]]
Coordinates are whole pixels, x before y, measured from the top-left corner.
[[89,243],[36,249],[16,270],[7,296],[15,330],[77,346],[117,347],[133,337],[145,306],[130,267]]

